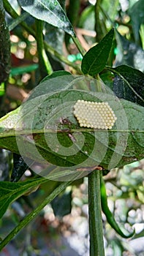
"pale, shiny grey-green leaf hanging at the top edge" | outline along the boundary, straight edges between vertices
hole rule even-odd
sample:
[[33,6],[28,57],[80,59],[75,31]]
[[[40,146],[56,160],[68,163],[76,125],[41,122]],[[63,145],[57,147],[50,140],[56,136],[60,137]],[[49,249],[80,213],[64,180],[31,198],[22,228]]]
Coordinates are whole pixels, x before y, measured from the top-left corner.
[[29,12],[34,18],[44,20],[59,29],[64,29],[72,37],[75,37],[75,31],[57,0],[19,0],[18,2],[23,10]]

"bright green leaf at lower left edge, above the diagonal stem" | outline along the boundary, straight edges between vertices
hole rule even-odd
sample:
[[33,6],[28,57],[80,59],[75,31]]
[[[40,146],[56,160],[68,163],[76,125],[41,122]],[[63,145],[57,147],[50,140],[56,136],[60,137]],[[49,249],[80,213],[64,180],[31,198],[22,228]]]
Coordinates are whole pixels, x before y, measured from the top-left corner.
[[10,203],[21,195],[29,192],[32,188],[48,181],[46,178],[37,178],[29,181],[13,183],[0,181],[0,219],[4,215]]

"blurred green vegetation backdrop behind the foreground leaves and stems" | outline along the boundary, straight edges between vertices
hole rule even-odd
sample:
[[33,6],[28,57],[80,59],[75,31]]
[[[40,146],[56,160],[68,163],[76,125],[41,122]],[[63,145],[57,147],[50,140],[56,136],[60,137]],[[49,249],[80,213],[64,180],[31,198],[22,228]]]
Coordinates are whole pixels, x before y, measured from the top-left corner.
[[[7,85],[0,85],[0,116],[18,108],[39,81],[53,71],[80,74],[83,58],[72,37],[64,30],[45,22],[39,25],[37,19],[21,9],[16,0],[3,3],[12,54],[9,80]],[[59,0],[59,3],[67,12],[85,51],[115,27],[117,32],[107,65],[118,67],[126,64],[144,72],[143,0]],[[42,45],[37,40],[42,36],[40,29],[46,43],[47,67],[42,66]],[[114,89],[113,73],[104,69],[99,75],[110,89]],[[0,149],[1,181],[10,181],[12,159],[10,151]],[[24,173],[18,170],[20,175],[23,173],[22,181],[35,176],[26,166],[23,168],[26,169]],[[131,226],[136,230],[131,240],[121,238],[102,214],[105,254],[143,256],[144,162],[140,160],[124,168],[116,168],[104,178],[108,206],[116,221],[126,230],[131,231]],[[1,218],[0,237],[7,236],[54,187],[53,182],[41,184],[37,191],[15,200]],[[45,206],[39,216],[4,247],[0,255],[89,255],[88,239],[88,178],[85,177],[75,181]]]

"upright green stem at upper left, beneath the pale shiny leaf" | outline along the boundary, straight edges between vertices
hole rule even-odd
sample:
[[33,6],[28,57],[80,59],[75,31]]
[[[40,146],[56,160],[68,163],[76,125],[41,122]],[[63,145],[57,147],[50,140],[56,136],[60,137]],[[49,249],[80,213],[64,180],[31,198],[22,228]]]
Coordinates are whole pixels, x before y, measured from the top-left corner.
[[42,78],[45,78],[46,75],[50,75],[53,72],[53,69],[48,60],[48,56],[45,53],[45,45],[43,40],[43,21],[36,20],[37,25],[37,53],[39,56],[39,70]]

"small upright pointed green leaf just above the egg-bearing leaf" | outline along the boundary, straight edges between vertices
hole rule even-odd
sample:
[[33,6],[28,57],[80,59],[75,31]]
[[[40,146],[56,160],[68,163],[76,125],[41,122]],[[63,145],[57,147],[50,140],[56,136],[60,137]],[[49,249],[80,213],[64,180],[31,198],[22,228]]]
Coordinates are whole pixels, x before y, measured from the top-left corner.
[[105,68],[113,44],[113,35],[114,29],[111,29],[98,45],[88,50],[82,60],[83,74],[94,76]]

